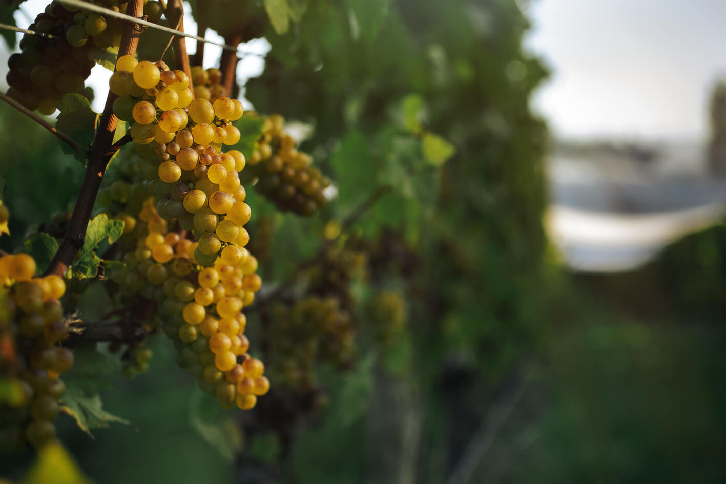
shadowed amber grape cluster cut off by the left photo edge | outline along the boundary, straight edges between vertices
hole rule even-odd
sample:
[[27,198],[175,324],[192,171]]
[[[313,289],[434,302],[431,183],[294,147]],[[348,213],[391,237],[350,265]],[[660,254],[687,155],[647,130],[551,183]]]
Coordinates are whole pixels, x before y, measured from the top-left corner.
[[59,375],[73,364],[59,276],[35,277],[30,255],[0,258],[0,380],[13,391],[0,403],[0,447],[12,451],[54,440],[53,420],[65,391]]

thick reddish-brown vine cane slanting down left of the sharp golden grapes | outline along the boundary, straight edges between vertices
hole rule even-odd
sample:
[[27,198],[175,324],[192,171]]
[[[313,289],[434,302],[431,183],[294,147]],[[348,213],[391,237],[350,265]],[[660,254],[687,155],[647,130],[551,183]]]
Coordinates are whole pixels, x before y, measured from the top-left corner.
[[[126,12],[133,17],[142,17],[144,15],[144,2],[142,0],[129,0]],[[123,24],[118,57],[126,54],[136,54],[136,46],[139,45],[141,32],[139,24],[132,22]],[[56,274],[58,276],[65,274],[70,264],[73,263],[73,259],[76,258],[78,251],[83,247],[83,241],[86,239],[86,228],[108,162],[113,154],[123,146],[121,141],[123,140],[124,143],[128,141],[128,138],[124,136],[119,142],[113,143],[113,135],[118,125],[118,118],[113,115],[113,102],[117,97],[112,91],[108,91],[106,105],[96,130],[96,136],[94,136],[91,149],[89,149],[86,174],[83,176],[81,191],[78,193],[76,206],[73,207],[73,214],[70,216],[68,231],[66,231],[58,252],[55,253],[45,274]]]

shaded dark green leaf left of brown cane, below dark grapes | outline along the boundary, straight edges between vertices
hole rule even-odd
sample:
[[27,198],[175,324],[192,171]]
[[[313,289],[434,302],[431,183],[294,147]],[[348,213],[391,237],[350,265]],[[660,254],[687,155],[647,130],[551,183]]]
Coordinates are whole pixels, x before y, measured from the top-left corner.
[[[81,94],[65,94],[58,103],[60,115],[55,123],[58,131],[78,141],[82,147],[91,146],[95,134],[97,113],[91,109],[91,103]],[[85,164],[86,156],[61,141],[60,148],[66,155],[73,155]]]

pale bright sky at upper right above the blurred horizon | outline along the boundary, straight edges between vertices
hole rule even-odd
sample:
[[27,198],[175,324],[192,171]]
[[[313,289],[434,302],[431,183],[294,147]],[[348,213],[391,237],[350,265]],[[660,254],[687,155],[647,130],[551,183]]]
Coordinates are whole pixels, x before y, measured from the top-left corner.
[[726,74],[726,0],[533,0],[552,67],[534,105],[560,136],[702,137]]

